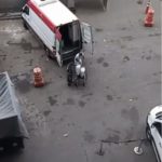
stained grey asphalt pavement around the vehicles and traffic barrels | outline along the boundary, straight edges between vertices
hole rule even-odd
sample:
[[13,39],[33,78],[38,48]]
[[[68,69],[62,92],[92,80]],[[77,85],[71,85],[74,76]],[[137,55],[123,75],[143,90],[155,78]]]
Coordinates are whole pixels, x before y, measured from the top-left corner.
[[[156,162],[145,129],[147,113],[161,104],[160,1],[152,1],[152,28],[144,27],[146,3],[110,0],[105,12],[78,3],[95,42],[85,55],[86,86],[78,89],[67,86],[66,66],[45,56],[21,19],[0,22],[0,68],[15,84],[30,134],[24,151],[1,162]],[[32,84],[36,66],[46,82],[41,89]]]

